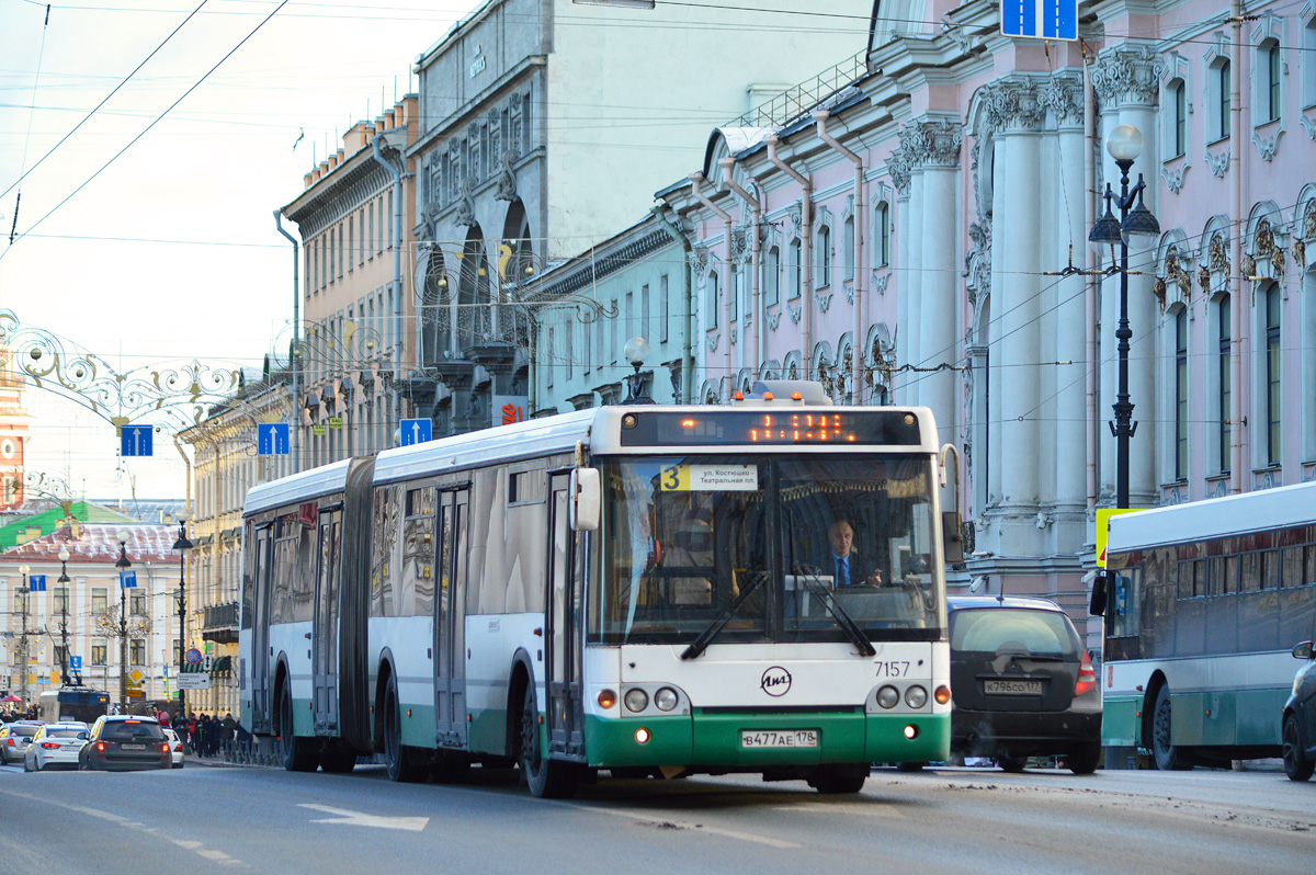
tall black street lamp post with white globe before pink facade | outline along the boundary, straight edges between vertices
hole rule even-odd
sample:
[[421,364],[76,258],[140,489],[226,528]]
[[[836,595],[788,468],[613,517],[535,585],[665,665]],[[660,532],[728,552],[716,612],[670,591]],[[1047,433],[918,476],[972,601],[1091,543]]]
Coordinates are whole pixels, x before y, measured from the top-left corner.
[[1155,237],[1161,233],[1161,225],[1142,203],[1142,192],[1146,189],[1142,174],[1138,174],[1137,184],[1129,189],[1129,168],[1142,151],[1142,133],[1133,125],[1116,125],[1105,139],[1105,149],[1120,168],[1120,195],[1116,200],[1120,218],[1116,221],[1111,213],[1115,195],[1107,183],[1105,214],[1092,226],[1087,239],[1098,245],[1109,243],[1112,251],[1116,243],[1120,245],[1120,324],[1115,330],[1119,341],[1119,389],[1112,405],[1115,421],[1111,422],[1111,433],[1115,436],[1115,505],[1128,509],[1129,438],[1138,430],[1138,424],[1133,421],[1133,403],[1129,401],[1129,338],[1133,337],[1129,329],[1129,241]]

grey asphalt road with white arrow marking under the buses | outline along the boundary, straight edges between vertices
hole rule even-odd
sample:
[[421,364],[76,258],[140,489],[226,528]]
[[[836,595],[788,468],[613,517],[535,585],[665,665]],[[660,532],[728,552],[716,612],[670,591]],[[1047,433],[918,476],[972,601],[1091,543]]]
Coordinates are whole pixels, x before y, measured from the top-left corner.
[[601,779],[537,800],[461,786],[208,767],[0,768],[0,872],[1303,872],[1316,782],[1282,772],[879,768],[858,796],[757,778]]

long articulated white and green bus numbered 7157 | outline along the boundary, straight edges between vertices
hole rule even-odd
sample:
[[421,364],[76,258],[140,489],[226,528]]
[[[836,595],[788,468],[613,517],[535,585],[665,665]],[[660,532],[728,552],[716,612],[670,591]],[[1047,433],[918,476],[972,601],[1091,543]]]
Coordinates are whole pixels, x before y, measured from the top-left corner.
[[[253,488],[243,722],[290,770],[519,766],[536,796],[599,771],[857,792],[871,763],[946,759],[932,413],[775,395],[579,411]],[[840,521],[880,574],[837,580]]]

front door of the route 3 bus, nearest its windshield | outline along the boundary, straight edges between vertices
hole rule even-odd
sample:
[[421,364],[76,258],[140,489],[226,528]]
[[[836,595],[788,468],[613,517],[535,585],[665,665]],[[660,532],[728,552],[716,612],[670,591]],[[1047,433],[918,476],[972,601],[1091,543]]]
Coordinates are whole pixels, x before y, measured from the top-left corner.
[[584,536],[571,530],[567,512],[570,472],[549,480],[549,604],[547,689],[549,751],[579,755],[584,751],[584,712],[580,699],[582,601],[584,589]]

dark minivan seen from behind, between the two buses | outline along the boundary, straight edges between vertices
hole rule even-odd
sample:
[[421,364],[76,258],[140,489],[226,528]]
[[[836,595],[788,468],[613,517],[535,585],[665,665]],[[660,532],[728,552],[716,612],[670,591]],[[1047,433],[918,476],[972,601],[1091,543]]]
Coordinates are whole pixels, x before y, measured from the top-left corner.
[[1101,755],[1101,691],[1078,630],[1053,601],[963,596],[950,621],[950,750],[1021,771],[1063,757],[1075,775]]

